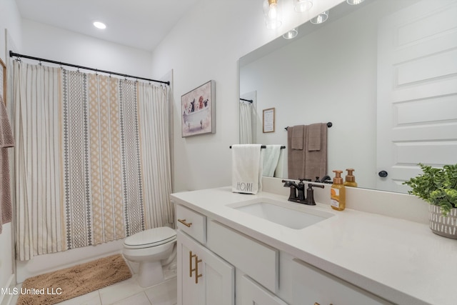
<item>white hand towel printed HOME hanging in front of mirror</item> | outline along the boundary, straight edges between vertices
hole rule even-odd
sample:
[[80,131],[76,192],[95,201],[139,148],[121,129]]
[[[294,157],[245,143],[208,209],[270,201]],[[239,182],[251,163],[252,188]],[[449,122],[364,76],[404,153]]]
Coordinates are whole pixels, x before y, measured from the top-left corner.
[[231,191],[257,194],[262,189],[261,145],[236,144],[231,150]]

